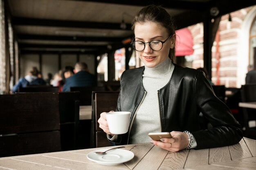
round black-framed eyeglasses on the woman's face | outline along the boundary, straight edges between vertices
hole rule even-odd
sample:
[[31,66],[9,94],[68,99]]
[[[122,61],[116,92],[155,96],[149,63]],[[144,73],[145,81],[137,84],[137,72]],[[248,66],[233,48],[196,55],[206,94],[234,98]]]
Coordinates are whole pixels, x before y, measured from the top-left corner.
[[172,35],[170,35],[166,40],[164,41],[160,41],[160,40],[152,40],[149,42],[143,42],[143,41],[134,41],[132,42],[132,47],[136,50],[136,51],[143,51],[146,47],[146,44],[149,45],[150,49],[152,49],[153,51],[160,51],[163,48],[164,43],[171,38]]

